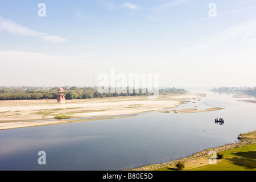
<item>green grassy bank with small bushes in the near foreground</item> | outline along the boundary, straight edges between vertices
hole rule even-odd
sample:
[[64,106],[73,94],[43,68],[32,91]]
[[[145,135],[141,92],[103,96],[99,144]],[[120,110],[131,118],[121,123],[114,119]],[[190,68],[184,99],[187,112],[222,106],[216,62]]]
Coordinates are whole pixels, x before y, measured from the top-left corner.
[[[177,171],[176,164],[184,164],[184,171],[255,171],[256,170],[256,131],[241,134],[240,143],[230,143],[225,146],[208,148],[187,158],[169,163],[152,164],[134,171]],[[217,159],[216,164],[209,164],[210,151],[220,152],[224,158]]]

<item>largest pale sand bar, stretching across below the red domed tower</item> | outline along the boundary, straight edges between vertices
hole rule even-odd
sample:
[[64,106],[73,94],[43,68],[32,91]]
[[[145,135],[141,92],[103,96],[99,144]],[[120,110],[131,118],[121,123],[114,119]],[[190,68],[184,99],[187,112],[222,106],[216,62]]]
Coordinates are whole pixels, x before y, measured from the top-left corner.
[[[159,96],[157,100],[148,100],[147,96],[94,98],[67,101],[65,104],[58,104],[55,100],[0,101],[0,130],[86,121],[86,119],[81,119],[81,121],[53,119],[56,115],[63,114],[72,118],[82,118],[162,110],[176,107],[185,100],[201,96],[204,94],[168,94],[167,96]],[[32,121],[39,119],[52,119],[52,121]]]

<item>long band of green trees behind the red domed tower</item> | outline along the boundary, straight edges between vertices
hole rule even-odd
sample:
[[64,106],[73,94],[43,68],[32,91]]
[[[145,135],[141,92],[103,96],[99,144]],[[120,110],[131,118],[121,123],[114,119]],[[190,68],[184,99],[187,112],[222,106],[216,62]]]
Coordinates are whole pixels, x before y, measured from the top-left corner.
[[[57,90],[59,87],[53,88],[39,88],[39,87],[6,87],[0,86],[0,100],[50,100],[56,99],[58,94]],[[88,99],[88,98],[102,98],[102,97],[118,97],[118,96],[149,96],[152,95],[148,92],[143,93],[142,89],[133,90],[132,93],[111,93],[110,88],[108,93],[99,93],[97,88],[92,87],[77,87],[77,86],[64,86],[64,94],[67,100],[73,99]],[[127,88],[128,90],[129,88]],[[188,91],[185,89],[177,89],[177,88],[163,88],[159,89],[159,94],[184,94]]]

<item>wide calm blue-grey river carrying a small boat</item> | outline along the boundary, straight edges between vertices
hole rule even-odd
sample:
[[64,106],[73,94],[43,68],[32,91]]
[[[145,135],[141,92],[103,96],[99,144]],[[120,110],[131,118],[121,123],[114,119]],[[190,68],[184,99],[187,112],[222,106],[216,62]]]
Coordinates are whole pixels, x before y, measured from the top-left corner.
[[[135,117],[69,123],[0,131],[0,170],[122,170],[164,163],[209,147],[237,141],[240,133],[255,131],[256,104],[233,94],[208,90],[206,97],[188,100],[175,109],[204,113],[150,111]],[[250,98],[254,99],[254,98]],[[215,118],[224,118],[217,125]],[[39,165],[39,151],[46,165]]]

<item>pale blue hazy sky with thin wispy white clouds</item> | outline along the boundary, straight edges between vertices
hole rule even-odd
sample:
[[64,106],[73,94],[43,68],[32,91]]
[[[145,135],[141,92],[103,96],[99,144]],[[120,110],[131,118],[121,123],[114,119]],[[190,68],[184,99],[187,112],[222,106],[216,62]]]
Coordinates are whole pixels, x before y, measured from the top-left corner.
[[256,86],[256,1],[0,1],[0,85],[92,86],[110,69]]

